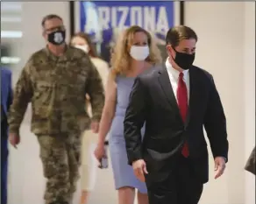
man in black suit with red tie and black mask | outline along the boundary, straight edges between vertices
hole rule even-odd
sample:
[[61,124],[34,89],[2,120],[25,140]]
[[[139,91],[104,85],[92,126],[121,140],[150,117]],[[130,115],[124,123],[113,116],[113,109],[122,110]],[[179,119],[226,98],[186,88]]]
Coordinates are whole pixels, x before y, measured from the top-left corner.
[[212,75],[193,66],[196,32],[176,26],[167,32],[166,41],[166,63],[134,82],[124,119],[127,155],[136,176],[145,176],[150,204],[196,204],[209,179],[203,126],[216,179],[227,162],[224,109]]

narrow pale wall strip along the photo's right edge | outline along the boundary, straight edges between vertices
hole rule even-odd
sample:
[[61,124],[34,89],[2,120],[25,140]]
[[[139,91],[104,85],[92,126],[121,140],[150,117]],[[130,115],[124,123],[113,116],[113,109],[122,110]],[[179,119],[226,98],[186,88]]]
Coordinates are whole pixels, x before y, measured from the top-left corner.
[[[245,3],[245,159],[255,146],[255,3]],[[245,172],[245,203],[255,203],[255,176]]]

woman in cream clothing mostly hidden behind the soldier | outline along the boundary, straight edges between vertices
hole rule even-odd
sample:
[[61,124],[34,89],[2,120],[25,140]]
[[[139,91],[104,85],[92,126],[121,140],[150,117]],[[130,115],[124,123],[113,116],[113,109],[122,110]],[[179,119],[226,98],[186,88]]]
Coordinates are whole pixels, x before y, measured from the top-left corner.
[[[84,53],[89,55],[90,60],[95,65],[98,73],[100,74],[103,81],[103,88],[107,83],[107,78],[109,75],[109,65],[104,60],[101,60],[97,54],[96,49],[93,46],[89,35],[84,32],[76,33],[71,41],[71,46],[81,49]],[[89,116],[92,118],[91,105],[89,101],[89,95],[87,95],[87,111]],[[91,192],[96,185],[96,170],[97,162],[93,154],[96,148],[97,134],[92,130],[85,130],[82,136],[82,196],[81,204],[88,203],[89,192]]]

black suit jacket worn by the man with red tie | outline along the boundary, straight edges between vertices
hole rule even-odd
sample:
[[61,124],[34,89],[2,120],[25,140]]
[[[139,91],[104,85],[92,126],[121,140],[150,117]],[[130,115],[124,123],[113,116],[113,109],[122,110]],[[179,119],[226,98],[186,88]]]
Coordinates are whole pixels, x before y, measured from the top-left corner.
[[[124,118],[124,137],[129,164],[144,158],[148,177],[164,179],[188,141],[189,158],[198,177],[208,181],[208,151],[203,126],[214,158],[228,158],[224,109],[212,76],[199,67],[189,69],[190,95],[188,117],[182,122],[167,68],[153,67],[140,74],[133,85]],[[146,122],[141,141],[140,129]]]

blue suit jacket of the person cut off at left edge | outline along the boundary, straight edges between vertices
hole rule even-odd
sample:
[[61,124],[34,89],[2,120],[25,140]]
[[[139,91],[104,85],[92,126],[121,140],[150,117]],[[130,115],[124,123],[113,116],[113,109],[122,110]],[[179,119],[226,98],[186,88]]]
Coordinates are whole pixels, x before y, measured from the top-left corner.
[[[6,120],[4,120],[2,125],[2,131],[7,133],[7,112],[11,106],[12,102],[12,89],[11,89],[11,71],[1,67],[1,116],[5,116]],[[3,114],[3,115],[2,115]],[[6,134],[2,134],[6,137]]]

